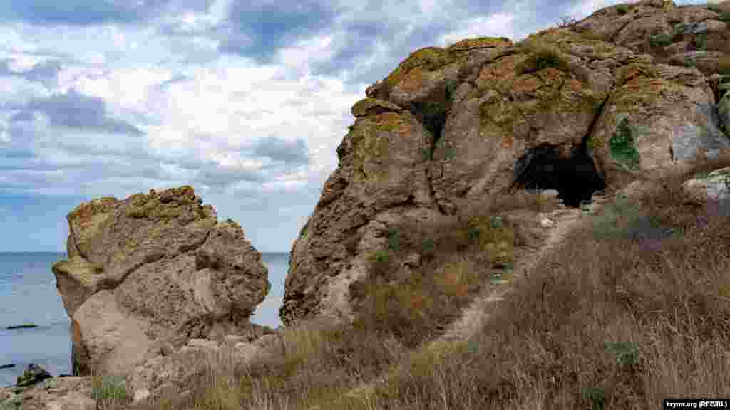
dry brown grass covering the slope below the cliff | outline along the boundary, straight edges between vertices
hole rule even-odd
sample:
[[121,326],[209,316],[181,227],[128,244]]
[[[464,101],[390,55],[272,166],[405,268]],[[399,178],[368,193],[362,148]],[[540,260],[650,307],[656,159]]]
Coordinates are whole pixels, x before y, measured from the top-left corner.
[[[495,266],[539,243],[520,219],[485,217],[547,205],[520,193],[453,225],[393,227],[372,276],[351,289],[351,328],[289,328],[280,357],[211,358],[193,395],[135,409],[649,409],[669,396],[726,397],[730,208],[684,204],[679,188],[723,166],[730,158],[697,163],[661,176],[664,189],[643,201],[605,207],[510,285],[477,336],[437,352],[421,347],[489,286]],[[661,239],[664,228],[677,235]],[[489,247],[505,238],[510,250]],[[415,250],[420,271],[403,275],[397,262]]]

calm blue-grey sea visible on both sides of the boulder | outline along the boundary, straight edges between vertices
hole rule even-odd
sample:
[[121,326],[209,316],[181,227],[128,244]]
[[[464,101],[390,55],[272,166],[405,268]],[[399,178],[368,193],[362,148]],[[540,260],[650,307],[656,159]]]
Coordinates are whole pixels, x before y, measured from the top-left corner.
[[[66,252],[0,252],[0,387],[15,384],[28,363],[41,365],[53,376],[71,374],[71,321],[55,288],[50,266]],[[284,295],[288,253],[263,253],[271,292],[258,305],[251,321],[277,328]],[[7,330],[32,322],[38,328]]]

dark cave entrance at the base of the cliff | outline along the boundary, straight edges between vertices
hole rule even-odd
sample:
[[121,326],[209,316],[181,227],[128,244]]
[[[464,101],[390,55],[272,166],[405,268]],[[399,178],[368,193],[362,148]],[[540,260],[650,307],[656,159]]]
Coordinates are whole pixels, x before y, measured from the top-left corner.
[[605,181],[599,176],[591,157],[580,147],[570,158],[560,158],[558,147],[542,144],[518,158],[515,181],[510,190],[557,190],[565,206],[577,208],[582,201],[591,201],[593,193],[604,190]]

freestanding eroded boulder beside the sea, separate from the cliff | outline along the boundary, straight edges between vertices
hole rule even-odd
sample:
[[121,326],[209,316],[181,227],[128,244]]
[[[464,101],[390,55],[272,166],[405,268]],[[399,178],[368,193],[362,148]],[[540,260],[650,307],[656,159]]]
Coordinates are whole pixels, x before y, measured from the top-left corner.
[[128,376],[190,339],[249,331],[269,292],[261,253],[189,186],[101,198],[69,213],[53,265],[72,320],[74,375]]

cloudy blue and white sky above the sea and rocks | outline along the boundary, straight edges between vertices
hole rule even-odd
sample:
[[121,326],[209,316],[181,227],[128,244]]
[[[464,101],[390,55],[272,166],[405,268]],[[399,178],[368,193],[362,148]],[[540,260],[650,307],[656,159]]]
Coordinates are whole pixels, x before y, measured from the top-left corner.
[[65,252],[75,206],[182,185],[289,252],[350,107],[410,53],[619,2],[0,1],[0,252]]

